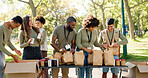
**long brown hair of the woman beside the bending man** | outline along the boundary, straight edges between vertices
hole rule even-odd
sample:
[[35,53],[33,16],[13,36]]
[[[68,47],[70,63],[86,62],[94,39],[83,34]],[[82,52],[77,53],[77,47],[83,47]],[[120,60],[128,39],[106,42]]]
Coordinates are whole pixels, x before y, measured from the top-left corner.
[[[25,32],[25,36],[27,36],[28,39],[30,39],[30,33],[31,33],[31,29],[29,26],[29,18],[31,18],[31,16],[26,15],[25,17],[23,17],[23,24],[20,28],[20,30],[23,30]],[[32,27],[32,29],[38,34],[39,33],[39,29],[36,27]]]

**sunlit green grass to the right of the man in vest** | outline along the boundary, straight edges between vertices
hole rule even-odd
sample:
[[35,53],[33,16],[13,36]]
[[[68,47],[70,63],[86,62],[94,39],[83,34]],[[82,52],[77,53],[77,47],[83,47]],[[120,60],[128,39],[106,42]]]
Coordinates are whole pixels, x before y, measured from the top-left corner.
[[121,58],[128,62],[148,62],[148,32],[143,37],[136,37],[135,41],[128,38],[126,57],[122,55],[122,51],[121,49]]

